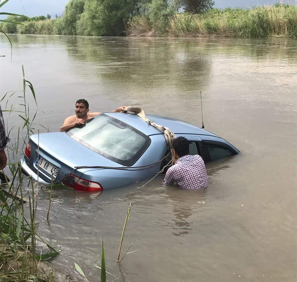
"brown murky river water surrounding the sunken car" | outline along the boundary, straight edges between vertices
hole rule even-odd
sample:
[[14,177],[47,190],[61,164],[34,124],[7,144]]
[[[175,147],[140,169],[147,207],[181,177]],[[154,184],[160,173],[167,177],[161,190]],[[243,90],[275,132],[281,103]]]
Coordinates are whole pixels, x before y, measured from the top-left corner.
[[[37,93],[38,124],[59,130],[78,98],[91,111],[122,104],[201,125],[242,154],[207,164],[203,191],[164,187],[161,177],[97,193],[39,193],[39,233],[60,250],[51,263],[99,281],[104,237],[108,281],[296,281],[294,39],[0,38],[1,97],[22,88],[21,63]],[[31,99],[32,100],[32,99]],[[32,102],[32,101],[29,101]],[[2,102],[2,108],[5,106]],[[33,103],[32,104],[32,108]],[[45,113],[43,113],[44,111]],[[7,115],[6,115],[7,117]],[[17,114],[8,126],[20,124]],[[116,263],[126,210],[131,216]],[[77,278],[79,280],[79,278]]]

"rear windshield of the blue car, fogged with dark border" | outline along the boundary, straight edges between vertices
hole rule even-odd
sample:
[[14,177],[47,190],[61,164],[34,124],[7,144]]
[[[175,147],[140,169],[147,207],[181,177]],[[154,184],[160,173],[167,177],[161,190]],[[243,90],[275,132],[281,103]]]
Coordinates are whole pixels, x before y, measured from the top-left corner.
[[104,114],[66,133],[87,148],[123,166],[132,166],[151,142],[148,136],[134,127]]

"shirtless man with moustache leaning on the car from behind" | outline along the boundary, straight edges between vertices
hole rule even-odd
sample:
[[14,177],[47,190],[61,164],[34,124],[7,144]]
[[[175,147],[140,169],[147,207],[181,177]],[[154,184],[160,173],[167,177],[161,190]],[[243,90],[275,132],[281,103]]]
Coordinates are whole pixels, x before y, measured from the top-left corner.
[[[126,106],[118,107],[112,112],[121,112],[125,109]],[[69,116],[65,119],[64,124],[60,128],[60,131],[67,131],[76,125],[84,124],[85,121],[100,115],[101,113],[89,113],[89,103],[85,99],[79,99],[75,103],[75,115]]]

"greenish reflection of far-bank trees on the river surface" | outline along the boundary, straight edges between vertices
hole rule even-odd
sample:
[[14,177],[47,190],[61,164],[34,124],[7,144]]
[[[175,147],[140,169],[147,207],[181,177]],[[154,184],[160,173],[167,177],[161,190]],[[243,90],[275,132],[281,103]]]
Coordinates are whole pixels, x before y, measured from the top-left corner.
[[[75,48],[73,48],[73,44]],[[200,88],[209,83],[211,61],[191,42],[156,39],[102,39],[75,37],[66,45],[72,59],[92,63],[105,81],[129,84],[138,89],[186,90],[189,82]]]

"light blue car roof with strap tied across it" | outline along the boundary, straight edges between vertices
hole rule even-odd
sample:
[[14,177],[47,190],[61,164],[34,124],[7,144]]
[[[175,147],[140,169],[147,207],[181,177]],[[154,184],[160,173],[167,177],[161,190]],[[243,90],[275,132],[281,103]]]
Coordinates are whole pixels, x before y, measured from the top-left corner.
[[[143,121],[139,116],[132,114],[132,113],[104,113],[105,115],[114,117],[120,121],[123,121],[136,129],[140,130],[146,135],[154,135],[154,134],[162,134],[160,130],[155,128],[152,125],[149,125],[147,122]],[[149,118],[151,121],[158,125],[163,125],[168,127],[172,132],[175,134],[201,134],[201,135],[210,135],[216,136],[218,135],[200,128],[196,125],[190,124],[185,121],[181,121],[175,118],[169,118],[165,116],[158,116],[158,115],[150,115],[146,114],[146,117]]]

